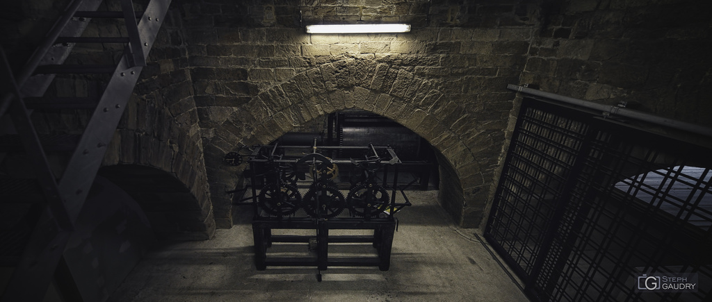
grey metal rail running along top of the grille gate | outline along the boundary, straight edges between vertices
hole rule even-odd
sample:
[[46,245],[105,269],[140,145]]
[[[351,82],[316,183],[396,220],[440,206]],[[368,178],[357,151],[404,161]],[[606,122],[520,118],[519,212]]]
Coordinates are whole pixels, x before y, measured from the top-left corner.
[[676,119],[668,119],[666,117],[659,117],[659,116],[656,116],[653,114],[639,112],[639,111],[627,109],[624,107],[617,107],[617,106],[606,105],[606,104],[598,104],[595,102],[585,101],[583,99],[566,97],[566,96],[557,95],[557,94],[551,93],[551,92],[543,92],[541,90],[535,90],[535,89],[531,89],[528,87],[523,87],[523,86],[518,86],[518,85],[513,85],[513,84],[507,85],[507,89],[515,90],[518,92],[524,92],[529,95],[536,95],[538,97],[546,97],[548,99],[554,99],[556,101],[565,102],[568,104],[575,104],[577,106],[586,107],[589,109],[596,109],[596,110],[600,110],[602,112],[607,112],[611,115],[619,115],[622,117],[629,117],[629,118],[638,119],[638,120],[641,120],[644,122],[650,122],[653,124],[669,126],[671,128],[680,129],[680,130],[684,130],[684,131],[690,131],[690,132],[693,132],[696,134],[702,134],[704,136],[712,137],[712,129],[711,128],[696,125],[696,124],[690,124],[687,122],[681,122]]

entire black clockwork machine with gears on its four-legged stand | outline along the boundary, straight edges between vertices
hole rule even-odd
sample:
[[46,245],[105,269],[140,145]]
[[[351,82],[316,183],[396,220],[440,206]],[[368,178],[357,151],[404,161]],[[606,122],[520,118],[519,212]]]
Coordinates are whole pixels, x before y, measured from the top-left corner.
[[[360,158],[334,155],[360,152]],[[394,214],[411,205],[397,185],[401,163],[382,146],[253,146],[245,176],[251,180],[253,235],[257,269],[267,266],[379,266],[389,268],[397,220]],[[241,156],[228,153],[228,164]],[[399,191],[404,202],[396,203]],[[271,230],[315,229],[314,236],[273,235]],[[372,236],[329,236],[329,230],[373,230]],[[315,246],[314,257],[268,257],[273,242],[304,242]],[[329,242],[367,242],[377,257],[328,257]],[[320,277],[320,274],[318,275]],[[320,278],[319,278],[320,279]]]

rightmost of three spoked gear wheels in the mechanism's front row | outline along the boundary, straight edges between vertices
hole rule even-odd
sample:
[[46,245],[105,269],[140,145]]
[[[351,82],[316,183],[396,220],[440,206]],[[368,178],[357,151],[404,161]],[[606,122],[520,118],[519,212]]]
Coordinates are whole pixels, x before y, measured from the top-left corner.
[[349,210],[359,217],[376,216],[390,203],[388,192],[380,185],[357,185],[349,191],[347,200]]

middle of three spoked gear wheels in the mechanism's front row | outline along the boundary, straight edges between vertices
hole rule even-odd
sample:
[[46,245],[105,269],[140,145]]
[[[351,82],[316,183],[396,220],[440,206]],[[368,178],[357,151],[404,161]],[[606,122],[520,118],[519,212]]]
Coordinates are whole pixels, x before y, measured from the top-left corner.
[[312,186],[304,195],[304,211],[310,217],[335,217],[341,214],[345,206],[344,195],[337,188],[325,184]]

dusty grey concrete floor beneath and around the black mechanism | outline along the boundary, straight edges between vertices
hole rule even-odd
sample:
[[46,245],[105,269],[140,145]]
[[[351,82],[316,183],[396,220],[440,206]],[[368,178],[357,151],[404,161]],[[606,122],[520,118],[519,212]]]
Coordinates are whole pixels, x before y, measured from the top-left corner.
[[[437,191],[407,194],[413,205],[396,215],[388,271],[330,267],[322,282],[315,267],[257,271],[245,207],[236,225],[217,230],[214,239],[164,243],[147,254],[109,301],[528,301],[475,230],[454,226]],[[308,253],[306,244],[273,248],[294,247]]]

